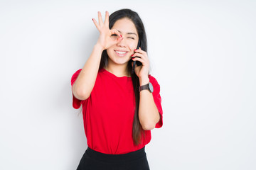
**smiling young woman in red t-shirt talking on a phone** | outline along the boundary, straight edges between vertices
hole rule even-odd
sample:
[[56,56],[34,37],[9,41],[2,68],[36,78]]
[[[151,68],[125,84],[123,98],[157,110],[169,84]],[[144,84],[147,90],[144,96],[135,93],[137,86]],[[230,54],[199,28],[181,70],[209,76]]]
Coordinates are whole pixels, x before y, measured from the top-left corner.
[[73,107],[84,120],[87,150],[78,169],[146,170],[150,130],[161,128],[160,86],[149,75],[146,33],[130,10],[93,18],[100,36],[85,66],[71,79]]

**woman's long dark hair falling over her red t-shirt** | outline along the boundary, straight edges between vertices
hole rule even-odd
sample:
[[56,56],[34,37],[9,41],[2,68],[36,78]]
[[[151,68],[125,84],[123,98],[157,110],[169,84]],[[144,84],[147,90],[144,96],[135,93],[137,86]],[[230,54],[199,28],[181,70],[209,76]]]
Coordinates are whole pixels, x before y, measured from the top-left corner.
[[[114,26],[114,23],[122,18],[129,18],[135,25],[137,29],[137,33],[139,34],[139,42],[140,47],[142,50],[146,52],[147,50],[147,42],[146,42],[146,31],[144,28],[144,25],[142,23],[142,19],[139,17],[138,13],[135,11],[132,11],[131,9],[124,8],[120,9],[119,11],[115,11],[110,15],[109,21],[109,27],[110,29]],[[108,62],[108,55],[107,50],[104,50],[102,52],[102,57],[100,61],[100,68],[102,69],[107,66]],[[134,121],[132,126],[132,137],[135,145],[139,145],[139,143],[142,140],[142,135],[144,137],[145,133],[142,129],[142,125],[139,123],[139,77],[134,73],[132,74],[132,60],[129,60],[127,64],[127,70],[131,72],[132,75],[132,84],[134,86],[134,94],[135,94],[135,113],[134,113]]]

